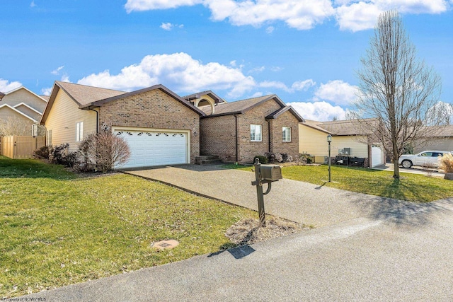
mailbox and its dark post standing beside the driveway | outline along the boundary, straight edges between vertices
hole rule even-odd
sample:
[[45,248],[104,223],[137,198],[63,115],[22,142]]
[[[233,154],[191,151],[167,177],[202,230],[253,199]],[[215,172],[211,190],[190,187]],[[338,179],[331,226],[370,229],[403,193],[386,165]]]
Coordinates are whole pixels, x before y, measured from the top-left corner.
[[[260,227],[266,226],[266,214],[264,211],[264,195],[270,192],[272,182],[282,179],[282,169],[280,165],[261,165],[258,158],[255,160],[255,178],[252,185],[256,185],[258,196],[258,216],[260,217]],[[263,192],[263,183],[268,184],[268,190]]]

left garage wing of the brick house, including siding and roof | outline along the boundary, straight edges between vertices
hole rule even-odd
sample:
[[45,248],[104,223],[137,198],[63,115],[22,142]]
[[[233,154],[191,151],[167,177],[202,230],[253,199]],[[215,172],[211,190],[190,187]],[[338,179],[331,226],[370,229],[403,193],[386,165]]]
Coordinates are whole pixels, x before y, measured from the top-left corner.
[[134,168],[195,162],[202,115],[162,85],[126,93],[57,81],[40,123],[47,144],[69,143],[70,151],[87,134],[108,127],[130,145],[124,168]]

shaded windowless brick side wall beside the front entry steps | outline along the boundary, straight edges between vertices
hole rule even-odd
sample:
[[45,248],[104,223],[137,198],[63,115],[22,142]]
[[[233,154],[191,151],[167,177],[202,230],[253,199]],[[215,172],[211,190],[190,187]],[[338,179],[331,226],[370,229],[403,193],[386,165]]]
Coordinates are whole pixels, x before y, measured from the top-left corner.
[[224,115],[200,119],[200,154],[236,161],[236,117]]

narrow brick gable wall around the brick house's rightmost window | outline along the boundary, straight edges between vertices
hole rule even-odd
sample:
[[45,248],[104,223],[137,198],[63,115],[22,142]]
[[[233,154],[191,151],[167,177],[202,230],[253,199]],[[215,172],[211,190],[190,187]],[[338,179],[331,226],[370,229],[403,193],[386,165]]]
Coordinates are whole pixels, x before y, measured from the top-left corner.
[[[288,153],[293,160],[299,155],[299,120],[291,112],[283,112],[271,122],[271,149],[274,153]],[[291,141],[283,141],[283,127],[291,127]]]

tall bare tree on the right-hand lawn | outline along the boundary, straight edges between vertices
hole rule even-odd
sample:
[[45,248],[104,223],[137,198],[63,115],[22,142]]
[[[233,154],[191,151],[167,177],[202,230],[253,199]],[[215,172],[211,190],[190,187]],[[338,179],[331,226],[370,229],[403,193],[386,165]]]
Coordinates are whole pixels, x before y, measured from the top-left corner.
[[369,50],[360,62],[360,93],[350,115],[391,154],[394,178],[399,179],[398,158],[405,148],[439,130],[426,126],[440,124],[432,110],[440,96],[440,76],[416,57],[396,11],[379,16]]

